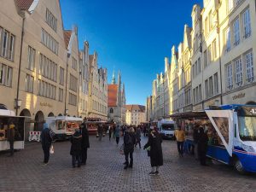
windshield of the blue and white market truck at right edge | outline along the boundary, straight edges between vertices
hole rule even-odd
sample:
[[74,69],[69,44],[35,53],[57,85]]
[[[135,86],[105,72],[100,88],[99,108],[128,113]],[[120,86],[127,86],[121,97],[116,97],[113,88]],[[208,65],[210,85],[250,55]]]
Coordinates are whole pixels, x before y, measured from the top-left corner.
[[256,141],[256,117],[238,117],[238,124],[242,141]]

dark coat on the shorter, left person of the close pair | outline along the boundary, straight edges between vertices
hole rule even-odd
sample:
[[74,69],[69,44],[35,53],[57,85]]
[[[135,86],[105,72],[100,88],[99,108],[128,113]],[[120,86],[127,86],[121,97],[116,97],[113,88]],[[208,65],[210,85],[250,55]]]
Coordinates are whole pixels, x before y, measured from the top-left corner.
[[71,155],[80,155],[82,152],[82,135],[76,131],[73,136],[70,138],[71,148],[70,154]]

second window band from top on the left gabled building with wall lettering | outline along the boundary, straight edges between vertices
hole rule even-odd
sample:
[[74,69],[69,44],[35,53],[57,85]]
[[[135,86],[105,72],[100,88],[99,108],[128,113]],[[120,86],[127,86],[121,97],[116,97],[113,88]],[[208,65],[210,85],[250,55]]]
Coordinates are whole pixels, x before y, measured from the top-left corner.
[[46,32],[43,28],[41,30],[41,43],[44,44],[48,49],[58,55],[59,51],[59,43],[55,40],[55,38],[51,37],[48,32]]

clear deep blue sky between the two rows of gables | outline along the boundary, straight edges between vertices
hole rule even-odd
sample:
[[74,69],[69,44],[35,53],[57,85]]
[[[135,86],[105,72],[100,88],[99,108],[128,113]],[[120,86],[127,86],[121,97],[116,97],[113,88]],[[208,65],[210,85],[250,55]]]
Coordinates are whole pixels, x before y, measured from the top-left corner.
[[88,40],[108,68],[108,83],[120,70],[126,103],[144,105],[164,58],[183,41],[184,24],[191,26],[195,3],[202,0],[61,0],[61,9],[65,29],[79,27],[79,48]]

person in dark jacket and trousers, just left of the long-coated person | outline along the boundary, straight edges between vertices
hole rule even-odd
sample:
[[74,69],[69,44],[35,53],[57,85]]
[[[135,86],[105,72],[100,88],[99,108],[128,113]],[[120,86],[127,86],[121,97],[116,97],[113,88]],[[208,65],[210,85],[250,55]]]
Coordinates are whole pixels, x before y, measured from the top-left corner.
[[[129,131],[125,131],[125,135],[124,135],[124,152],[125,152],[124,169],[127,169],[128,167],[132,168],[133,166],[133,151],[134,151],[135,143],[136,143],[136,136],[134,133],[134,129],[131,127]],[[129,156],[130,156],[130,163],[129,163]]]

